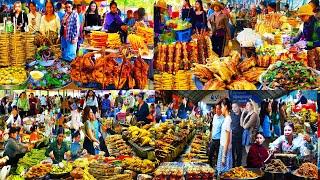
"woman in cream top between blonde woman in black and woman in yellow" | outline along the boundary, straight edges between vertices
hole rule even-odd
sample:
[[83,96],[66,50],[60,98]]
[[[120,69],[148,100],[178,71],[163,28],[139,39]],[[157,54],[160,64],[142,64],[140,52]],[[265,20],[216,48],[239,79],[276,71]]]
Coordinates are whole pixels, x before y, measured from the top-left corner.
[[41,14],[37,12],[37,6],[34,2],[29,3],[30,13],[28,16],[28,28],[30,32],[37,32],[40,30]]

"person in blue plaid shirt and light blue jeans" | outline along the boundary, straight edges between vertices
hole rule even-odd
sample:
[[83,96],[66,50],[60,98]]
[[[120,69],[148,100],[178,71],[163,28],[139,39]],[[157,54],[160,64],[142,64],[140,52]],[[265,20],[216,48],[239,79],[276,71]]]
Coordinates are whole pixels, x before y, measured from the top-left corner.
[[61,26],[61,50],[62,59],[72,61],[76,57],[77,42],[79,38],[80,21],[78,13],[73,11],[73,2],[65,3],[66,13]]

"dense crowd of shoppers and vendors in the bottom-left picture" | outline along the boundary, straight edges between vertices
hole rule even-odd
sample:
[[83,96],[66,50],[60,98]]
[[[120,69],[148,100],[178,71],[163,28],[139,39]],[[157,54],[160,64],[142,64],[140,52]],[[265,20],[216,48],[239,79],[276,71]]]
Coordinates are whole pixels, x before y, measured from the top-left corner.
[[[44,125],[45,137],[56,136],[47,148],[46,155],[54,163],[68,158],[79,157],[83,153],[97,154],[100,151],[108,155],[105,145],[107,133],[114,133],[111,127],[102,125],[102,118],[111,118],[117,124],[118,113],[124,113],[129,123],[147,124],[153,122],[152,110],[154,104],[147,104],[145,94],[124,95],[119,92],[116,98],[111,93],[103,97],[97,96],[94,91],[88,91],[81,98],[62,96],[35,96],[22,92],[17,98],[3,97],[1,100],[1,115],[5,117],[5,127],[8,129],[9,139],[5,145],[4,155],[9,157],[8,163],[14,165],[19,158],[31,150],[36,142],[41,141],[39,126]],[[126,111],[122,111],[126,109]],[[39,117],[30,129],[26,129],[24,121],[32,117]],[[65,142],[64,132],[71,131],[72,143],[69,147]],[[84,141],[80,143],[80,134],[83,132]],[[21,136],[30,134],[30,143],[22,144]],[[82,148],[83,147],[83,148]],[[84,151],[82,151],[82,149]]]

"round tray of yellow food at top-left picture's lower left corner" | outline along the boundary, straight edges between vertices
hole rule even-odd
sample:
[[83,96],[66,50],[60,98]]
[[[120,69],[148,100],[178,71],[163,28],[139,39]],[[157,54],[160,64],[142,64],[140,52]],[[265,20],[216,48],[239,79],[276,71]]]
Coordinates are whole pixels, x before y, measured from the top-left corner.
[[27,81],[24,67],[10,66],[0,68],[0,85],[19,85]]

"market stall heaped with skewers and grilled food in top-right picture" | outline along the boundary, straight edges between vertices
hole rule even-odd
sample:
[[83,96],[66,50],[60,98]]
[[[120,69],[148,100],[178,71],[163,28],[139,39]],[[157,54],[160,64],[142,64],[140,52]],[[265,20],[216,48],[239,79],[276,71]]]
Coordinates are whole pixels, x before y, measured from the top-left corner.
[[[155,7],[161,9],[160,2]],[[255,26],[226,41],[219,57],[213,52],[219,42],[212,42],[212,32],[192,30],[191,23],[180,19],[186,8],[181,6],[174,6],[182,9],[178,16],[162,7],[164,11],[155,17],[163,25],[156,34],[155,89],[318,89],[319,48],[304,40],[293,43],[303,23],[295,13],[257,15]]]

